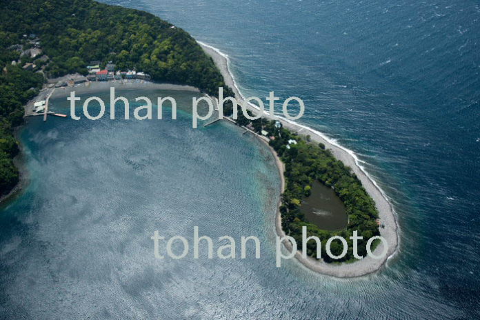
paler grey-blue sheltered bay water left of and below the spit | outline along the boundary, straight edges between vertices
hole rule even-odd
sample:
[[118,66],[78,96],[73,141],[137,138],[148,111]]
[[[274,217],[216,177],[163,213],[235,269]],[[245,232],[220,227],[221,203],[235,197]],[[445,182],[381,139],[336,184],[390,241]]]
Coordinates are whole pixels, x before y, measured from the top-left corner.
[[[186,112],[167,119],[29,119],[21,140],[31,183],[0,215],[2,317],[351,318],[346,308],[367,316],[390,299],[397,317],[410,315],[412,301],[414,312],[453,314],[446,301],[403,287],[420,274],[398,263],[354,280],[294,260],[276,268],[279,175],[266,146],[230,123],[193,130]],[[192,243],[193,226],[213,239],[255,235],[261,259],[154,258],[154,230]]]

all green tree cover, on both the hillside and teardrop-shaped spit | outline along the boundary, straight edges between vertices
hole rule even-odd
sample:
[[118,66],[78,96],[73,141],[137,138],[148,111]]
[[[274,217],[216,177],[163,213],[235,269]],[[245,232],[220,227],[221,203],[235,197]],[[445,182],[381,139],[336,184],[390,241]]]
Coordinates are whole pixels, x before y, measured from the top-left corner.
[[[23,119],[23,105],[32,99],[48,77],[79,72],[87,74],[90,61],[104,68],[110,61],[118,68],[144,70],[153,81],[179,83],[199,88],[217,97],[234,97],[223,76],[190,35],[153,14],[108,6],[92,0],[1,1],[0,12],[0,194],[7,194],[19,181],[12,159],[19,152],[13,129]],[[39,53],[39,50],[41,53]],[[231,105],[224,114],[231,112]],[[349,237],[358,230],[363,237],[358,252],[366,254],[366,242],[379,235],[375,203],[350,168],[334,158],[321,144],[311,143],[275,121],[250,121],[239,112],[237,124],[255,132],[269,132],[270,146],[285,163],[286,190],[281,197],[283,230],[301,242],[301,227],[322,243],[333,235],[349,241],[348,253],[340,261],[351,261]],[[290,146],[288,141],[295,140]],[[308,197],[313,181],[333,188],[346,206],[347,228],[321,230],[304,219],[302,199]],[[339,254],[339,243],[332,243]],[[314,241],[308,254],[314,256]],[[332,262],[323,256],[326,262]]]

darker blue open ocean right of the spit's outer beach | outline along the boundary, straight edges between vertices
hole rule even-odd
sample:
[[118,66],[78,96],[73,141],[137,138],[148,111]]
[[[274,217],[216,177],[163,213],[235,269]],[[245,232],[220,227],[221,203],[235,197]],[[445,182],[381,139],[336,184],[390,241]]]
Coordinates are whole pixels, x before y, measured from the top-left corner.
[[246,96],[301,97],[300,122],[354,150],[387,192],[402,230],[397,277],[382,275],[379,297],[337,295],[346,317],[480,317],[479,3],[106,2],[228,54]]

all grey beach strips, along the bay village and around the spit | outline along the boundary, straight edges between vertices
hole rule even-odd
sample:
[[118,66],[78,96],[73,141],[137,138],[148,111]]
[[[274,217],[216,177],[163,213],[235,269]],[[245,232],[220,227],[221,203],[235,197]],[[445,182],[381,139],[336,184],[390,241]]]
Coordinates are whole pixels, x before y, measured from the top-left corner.
[[[217,68],[219,68],[221,74],[223,75],[224,81],[227,86],[232,88],[234,91],[234,94],[237,97],[237,100],[243,101],[244,97],[239,91],[239,88],[237,86],[237,83],[234,81],[234,77],[232,73],[230,72],[230,68],[228,64],[230,63],[228,56],[226,54],[223,54],[220,52],[217,48],[214,48],[212,46],[208,46],[206,43],[201,43],[200,41],[197,41],[199,45],[203,48],[203,50],[208,54],[208,56],[212,57],[215,65]],[[66,76],[68,77],[68,76]],[[172,84],[172,83],[155,83],[152,81],[94,81],[89,83],[88,85],[86,83],[80,83],[75,86],[70,86],[66,87],[65,90],[57,90],[55,92],[56,97],[61,97],[61,96],[68,96],[68,93],[71,90],[76,90],[79,94],[83,94],[86,92],[105,92],[106,90],[109,90],[110,87],[115,87],[115,88],[122,88],[125,90],[138,90],[140,88],[146,88],[146,89],[157,89],[157,90],[186,90],[186,91],[192,91],[192,92],[200,92],[198,88],[194,88],[192,86],[183,86],[183,85],[177,85],[177,84]],[[52,92],[54,88],[43,88],[41,92],[37,95],[37,97],[34,97],[31,101],[29,101],[25,108],[25,115],[30,115],[32,114],[32,107],[33,107],[33,101],[41,99],[41,97],[46,97],[50,92]],[[208,95],[207,95],[208,97]],[[248,103],[248,108],[252,112],[257,113],[259,110],[253,106],[251,103]],[[384,239],[386,239],[388,243],[388,251],[385,257],[382,259],[373,259],[371,257],[365,257],[359,261],[353,261],[352,263],[341,263],[341,264],[332,264],[332,263],[325,263],[323,261],[307,257],[303,258],[301,255],[301,251],[297,251],[297,254],[295,257],[297,260],[301,263],[302,266],[313,270],[315,272],[319,272],[320,274],[326,274],[332,277],[339,277],[339,278],[346,278],[346,277],[361,277],[365,276],[367,274],[371,274],[373,272],[376,272],[380,268],[386,265],[386,263],[394,257],[394,255],[397,253],[397,249],[399,247],[399,226],[397,223],[397,217],[396,214],[394,213],[394,210],[388,201],[386,194],[381,190],[381,188],[377,185],[377,183],[368,175],[368,172],[363,170],[363,168],[359,165],[357,156],[352,152],[351,150],[348,150],[346,148],[343,148],[342,146],[339,146],[339,144],[334,143],[328,137],[326,137],[324,134],[321,132],[318,132],[312,128],[308,128],[307,126],[303,126],[299,123],[295,123],[294,121],[290,121],[288,119],[284,119],[283,117],[272,117],[270,114],[267,112],[264,114],[264,116],[267,119],[276,119],[279,120],[282,125],[285,128],[288,128],[292,132],[297,132],[298,134],[310,134],[310,139],[314,141],[315,143],[323,143],[326,148],[330,149],[332,151],[332,154],[334,157],[340,161],[342,161],[346,166],[350,166],[352,168],[352,171],[357,174],[357,177],[361,181],[363,188],[366,189],[368,194],[370,194],[370,197],[374,200],[377,210],[379,211],[379,219],[381,223],[385,225],[385,228],[379,228],[380,235]],[[23,126],[23,125],[22,125]],[[273,150],[272,147],[268,144],[268,141],[265,139],[262,139],[258,134],[255,132],[254,135],[262,141],[263,143],[266,143],[266,146],[272,152],[272,155],[275,159],[275,163],[277,166],[277,169],[279,170],[279,175],[281,179],[281,193],[284,192],[285,190],[285,177],[284,177],[284,164],[281,161],[281,159],[278,157],[277,152]],[[22,151],[21,151],[22,152]],[[23,168],[23,166],[17,166],[19,168],[19,174],[21,176],[25,177],[25,174],[28,174],[26,172],[26,168]],[[19,194],[19,191],[23,189],[23,184],[26,183],[24,179],[23,181],[19,181],[17,186],[6,196],[2,197],[0,199],[0,203],[3,205],[8,201],[8,199],[14,199],[15,194]],[[23,182],[23,183],[22,183]],[[279,211],[279,206],[281,205],[281,200],[279,200],[279,203],[277,205],[277,212],[275,215],[275,230],[277,232],[277,236],[279,237],[285,237],[286,234],[283,231],[283,228],[281,227],[281,214]],[[290,242],[283,242],[283,245],[285,248],[289,251],[292,250],[292,246]],[[380,243],[377,248],[374,250],[374,254],[379,254],[383,250],[383,244]]]

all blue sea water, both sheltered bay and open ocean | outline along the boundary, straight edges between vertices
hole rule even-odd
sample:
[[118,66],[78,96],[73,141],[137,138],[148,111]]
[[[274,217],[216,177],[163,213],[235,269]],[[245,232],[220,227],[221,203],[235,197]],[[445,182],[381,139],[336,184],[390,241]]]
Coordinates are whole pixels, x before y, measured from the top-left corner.
[[[301,97],[299,122],[353,150],[390,198],[399,254],[361,279],[274,268],[278,173],[227,123],[32,120],[31,183],[0,214],[0,317],[480,317],[478,2],[103,2],[219,48],[246,96]],[[192,226],[255,234],[264,256],[152,257],[153,230]]]

